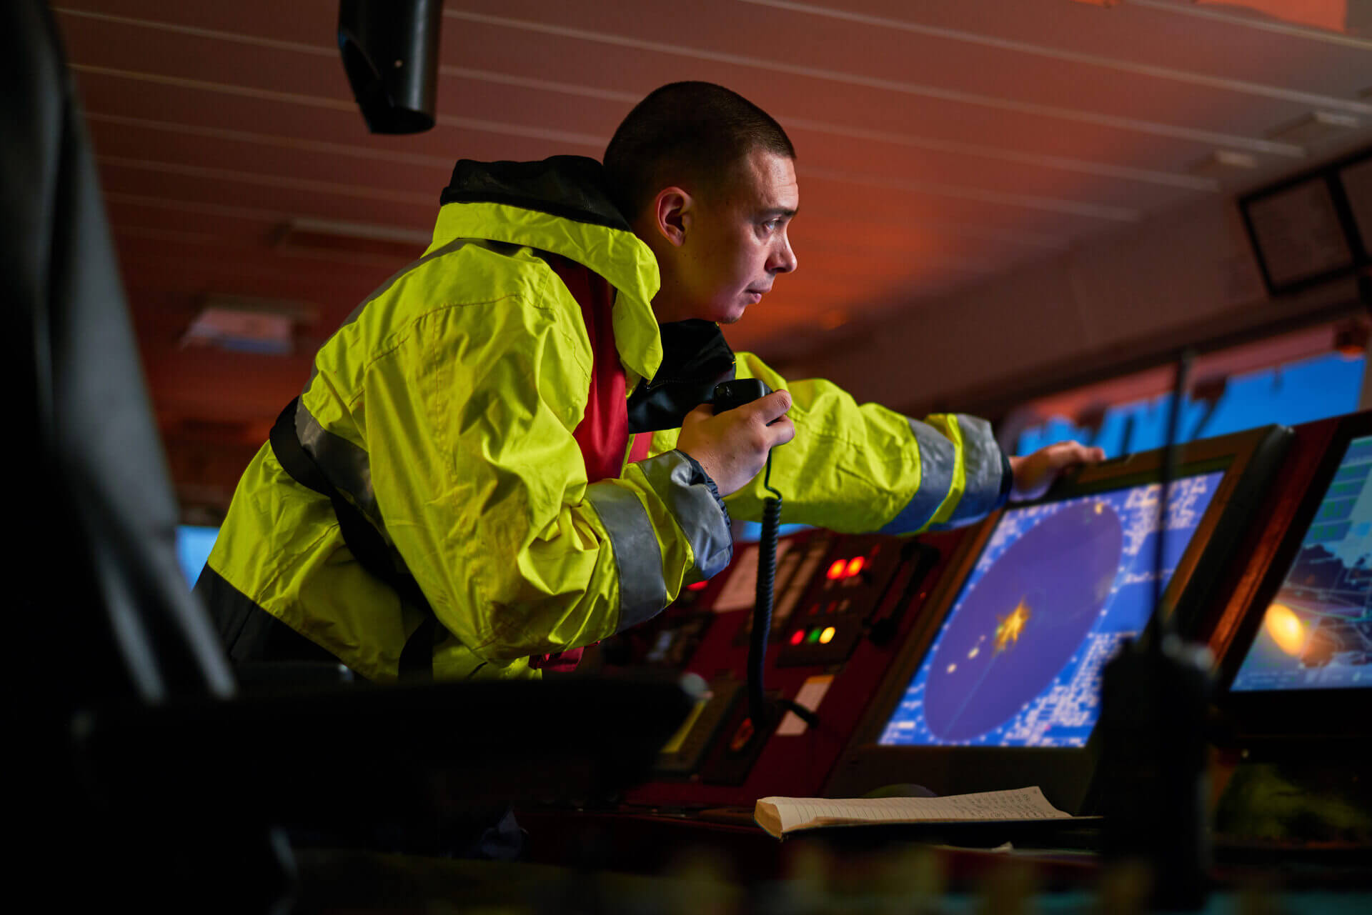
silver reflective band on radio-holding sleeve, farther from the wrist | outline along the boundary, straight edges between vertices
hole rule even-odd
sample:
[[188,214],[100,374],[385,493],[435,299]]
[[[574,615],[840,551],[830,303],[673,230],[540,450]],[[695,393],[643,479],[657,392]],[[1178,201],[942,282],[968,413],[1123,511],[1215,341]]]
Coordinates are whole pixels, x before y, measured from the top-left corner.
[[667,606],[663,551],[638,497],[609,480],[586,487],[586,501],[609,534],[619,572],[619,631],[650,620]]

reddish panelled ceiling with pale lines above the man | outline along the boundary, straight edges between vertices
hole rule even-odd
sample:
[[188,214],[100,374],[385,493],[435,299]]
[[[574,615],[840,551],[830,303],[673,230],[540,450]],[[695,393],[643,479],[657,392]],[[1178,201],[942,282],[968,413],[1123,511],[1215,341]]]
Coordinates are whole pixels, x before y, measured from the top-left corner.
[[[598,156],[664,82],[797,147],[800,270],[729,329],[772,358],[1372,140],[1361,0],[449,0],[438,126],[402,137],[366,133],[335,0],[54,8],[188,502],[224,501],[313,347],[423,250],[457,158]],[[294,316],[294,353],[184,346],[222,300]]]

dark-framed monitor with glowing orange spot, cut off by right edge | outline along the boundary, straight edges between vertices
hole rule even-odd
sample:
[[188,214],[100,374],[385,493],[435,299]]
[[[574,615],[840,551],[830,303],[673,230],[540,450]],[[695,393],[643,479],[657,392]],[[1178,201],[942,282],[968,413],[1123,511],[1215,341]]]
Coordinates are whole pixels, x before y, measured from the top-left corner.
[[1372,413],[1342,417],[1221,664],[1240,741],[1372,735]]

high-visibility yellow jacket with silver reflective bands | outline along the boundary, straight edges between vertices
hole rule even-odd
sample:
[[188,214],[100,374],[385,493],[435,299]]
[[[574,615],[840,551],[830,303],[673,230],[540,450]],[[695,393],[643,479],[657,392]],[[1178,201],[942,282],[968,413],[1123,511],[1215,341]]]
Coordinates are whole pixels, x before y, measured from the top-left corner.
[[[568,162],[550,167],[590,167]],[[713,484],[674,450],[678,429],[652,433],[648,460],[595,483],[572,436],[593,351],[545,252],[616,291],[613,336],[632,390],[661,359],[650,250],[575,174],[534,171],[512,192],[465,165],[471,181],[445,193],[428,251],[320,348],[296,431],[450,634],[435,647],[435,676],[538,676],[531,654],[652,617],[723,569],[731,540]],[[982,420],[919,423],[858,406],[833,384],[788,383],[748,354],[737,372],[794,399],[796,439],[775,450],[772,468],[786,521],[915,532],[1003,499],[1008,465]],[[756,520],[763,495],[757,480],[724,502]],[[329,501],[292,480],[266,444],[206,573],[369,679],[397,675],[424,616],[361,568]]]

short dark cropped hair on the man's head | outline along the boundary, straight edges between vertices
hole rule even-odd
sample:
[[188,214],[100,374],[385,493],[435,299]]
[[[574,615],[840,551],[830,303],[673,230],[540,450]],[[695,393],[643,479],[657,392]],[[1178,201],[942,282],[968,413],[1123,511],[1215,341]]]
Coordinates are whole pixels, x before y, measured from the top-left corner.
[[796,148],[756,104],[713,82],[670,82],[634,106],[605,147],[605,176],[624,217],[632,221],[668,184],[712,191],[753,150],[788,159]]

